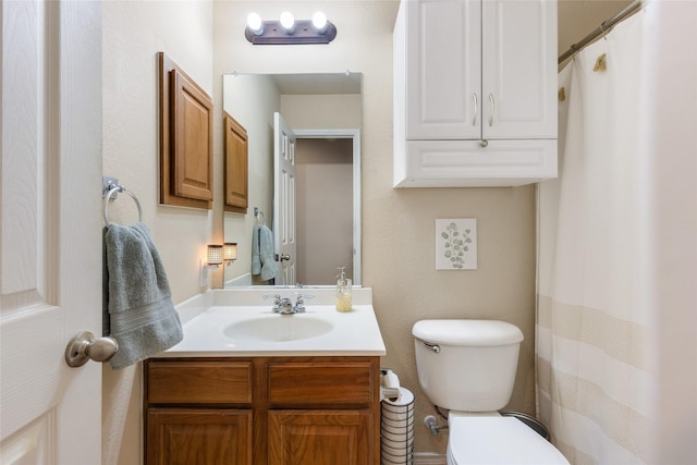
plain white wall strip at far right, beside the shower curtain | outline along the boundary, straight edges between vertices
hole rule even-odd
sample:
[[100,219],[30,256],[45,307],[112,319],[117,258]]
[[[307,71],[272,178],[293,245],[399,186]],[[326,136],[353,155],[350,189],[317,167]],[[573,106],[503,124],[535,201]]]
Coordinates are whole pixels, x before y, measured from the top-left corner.
[[[656,161],[647,201],[656,279],[651,371],[651,463],[697,463],[697,3],[649,2],[653,9],[646,70],[653,91],[643,112],[656,130],[646,149]],[[667,52],[672,51],[672,52]],[[665,91],[673,89],[675,91]]]

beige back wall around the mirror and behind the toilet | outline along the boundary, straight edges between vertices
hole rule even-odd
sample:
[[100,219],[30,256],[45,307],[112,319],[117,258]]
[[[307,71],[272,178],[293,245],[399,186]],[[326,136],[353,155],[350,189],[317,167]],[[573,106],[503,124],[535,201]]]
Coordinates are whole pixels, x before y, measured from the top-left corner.
[[[327,46],[260,47],[244,39],[249,11],[276,17],[284,5],[217,2],[215,75],[363,73],[363,282],[375,290],[388,350],[383,365],[416,394],[416,451],[444,452],[447,439],[433,438],[420,424],[432,408],[418,389],[411,327],[423,318],[500,318],[521,327],[526,339],[511,407],[534,413],[535,188],[393,189],[391,57],[398,3],[322,2],[338,28]],[[293,12],[310,17],[315,5],[294,2]],[[477,271],[436,271],[437,218],[478,219]]]

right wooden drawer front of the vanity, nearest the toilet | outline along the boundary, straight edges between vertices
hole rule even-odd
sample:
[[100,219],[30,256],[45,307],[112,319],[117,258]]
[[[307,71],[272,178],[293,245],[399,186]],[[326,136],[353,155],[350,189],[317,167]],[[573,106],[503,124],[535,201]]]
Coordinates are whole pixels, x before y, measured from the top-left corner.
[[270,363],[269,401],[278,404],[370,404],[376,372],[370,362]]

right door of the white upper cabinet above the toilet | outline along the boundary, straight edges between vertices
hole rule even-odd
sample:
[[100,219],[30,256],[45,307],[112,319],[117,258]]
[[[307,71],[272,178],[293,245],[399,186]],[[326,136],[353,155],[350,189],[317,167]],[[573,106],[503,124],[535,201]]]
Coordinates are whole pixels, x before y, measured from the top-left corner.
[[557,2],[482,3],[484,138],[557,138]]

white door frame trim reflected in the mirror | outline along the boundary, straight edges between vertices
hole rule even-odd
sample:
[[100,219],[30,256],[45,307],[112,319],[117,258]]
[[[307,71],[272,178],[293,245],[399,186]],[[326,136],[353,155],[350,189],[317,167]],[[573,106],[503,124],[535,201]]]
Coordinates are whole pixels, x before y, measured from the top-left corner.
[[360,272],[360,130],[293,130],[296,138],[353,139],[353,283],[363,284]]

